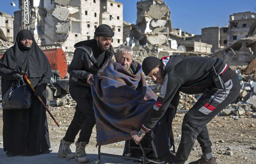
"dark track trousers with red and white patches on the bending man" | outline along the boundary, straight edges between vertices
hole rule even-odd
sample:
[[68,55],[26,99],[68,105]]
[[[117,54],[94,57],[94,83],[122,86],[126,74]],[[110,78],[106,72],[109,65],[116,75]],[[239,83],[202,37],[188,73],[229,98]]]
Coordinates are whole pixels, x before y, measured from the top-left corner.
[[196,139],[202,148],[202,152],[212,152],[212,142],[209,140],[206,125],[215,115],[237,98],[240,92],[239,78],[232,78],[225,83],[225,86],[226,90],[208,86],[203,96],[184,116],[175,164],[185,163]]

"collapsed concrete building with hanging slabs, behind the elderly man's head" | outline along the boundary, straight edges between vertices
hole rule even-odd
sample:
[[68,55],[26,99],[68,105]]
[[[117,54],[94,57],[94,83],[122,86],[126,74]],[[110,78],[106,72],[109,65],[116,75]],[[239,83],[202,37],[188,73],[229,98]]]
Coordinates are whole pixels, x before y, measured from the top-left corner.
[[[172,29],[170,10],[163,0],[143,0],[137,2],[137,24],[124,23],[124,33],[128,36],[124,41],[130,46],[162,45],[156,56],[184,54],[209,55],[212,45],[201,41],[186,40],[181,29]],[[129,35],[127,35],[129,33]]]

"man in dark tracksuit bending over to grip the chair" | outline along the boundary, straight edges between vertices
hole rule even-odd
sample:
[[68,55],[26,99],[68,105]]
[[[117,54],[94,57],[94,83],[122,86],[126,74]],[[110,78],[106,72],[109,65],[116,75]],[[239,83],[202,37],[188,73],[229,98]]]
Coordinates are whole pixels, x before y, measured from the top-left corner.
[[183,55],[162,59],[147,57],[143,60],[142,69],[145,75],[162,87],[160,96],[144,120],[140,132],[136,131],[132,135],[136,144],[154,127],[169,104],[174,105],[177,110],[180,92],[203,93],[183,118],[180,145],[173,164],[185,163],[195,140],[200,144],[203,154],[198,161],[189,164],[217,164],[206,125],[239,95],[240,82],[236,73],[221,58],[183,58]]

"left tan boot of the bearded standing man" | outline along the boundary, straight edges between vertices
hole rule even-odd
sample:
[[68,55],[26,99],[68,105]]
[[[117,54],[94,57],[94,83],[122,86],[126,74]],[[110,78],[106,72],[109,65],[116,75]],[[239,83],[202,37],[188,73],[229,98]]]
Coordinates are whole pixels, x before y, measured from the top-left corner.
[[66,158],[75,157],[75,153],[71,152],[70,150],[70,144],[72,144],[72,142],[64,141],[63,139],[61,140],[61,144],[58,150],[58,157],[66,157]]

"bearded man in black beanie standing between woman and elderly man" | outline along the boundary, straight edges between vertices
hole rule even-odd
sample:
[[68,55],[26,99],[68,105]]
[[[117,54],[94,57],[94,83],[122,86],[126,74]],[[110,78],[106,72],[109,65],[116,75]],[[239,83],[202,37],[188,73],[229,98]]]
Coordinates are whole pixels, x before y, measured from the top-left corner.
[[[94,39],[81,41],[74,45],[76,50],[67,72],[70,74],[69,92],[77,105],[74,118],[67,129],[66,135],[61,139],[58,157],[75,157],[78,162],[89,161],[85,146],[89,143],[93,127],[96,124],[90,79],[94,80],[93,75],[99,76],[111,61],[113,36],[112,28],[102,24],[95,29]],[[75,154],[71,152],[70,144],[74,143],[79,131]]]

